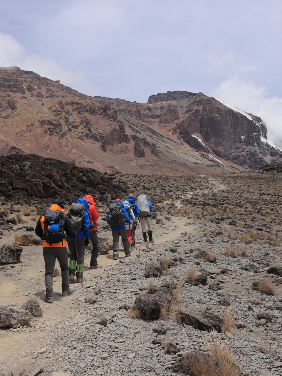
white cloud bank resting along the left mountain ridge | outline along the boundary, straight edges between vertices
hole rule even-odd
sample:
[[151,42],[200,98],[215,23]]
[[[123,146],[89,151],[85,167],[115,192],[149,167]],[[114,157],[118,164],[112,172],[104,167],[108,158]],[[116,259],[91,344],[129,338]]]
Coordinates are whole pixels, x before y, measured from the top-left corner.
[[[11,35],[0,32],[0,66],[17,66],[23,70],[32,70],[43,77],[60,80],[64,85],[83,82],[87,86],[85,74],[81,71],[71,71],[60,67],[56,61],[36,54],[28,54],[24,47]],[[89,85],[91,90],[91,86]]]

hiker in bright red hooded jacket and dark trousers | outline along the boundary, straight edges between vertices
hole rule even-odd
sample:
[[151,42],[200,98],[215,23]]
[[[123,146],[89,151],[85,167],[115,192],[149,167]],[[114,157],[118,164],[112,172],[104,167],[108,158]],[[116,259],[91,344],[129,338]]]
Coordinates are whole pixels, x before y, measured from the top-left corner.
[[88,194],[86,196],[83,196],[83,199],[85,199],[88,202],[88,211],[89,211],[89,220],[90,220],[90,226],[89,226],[89,237],[90,241],[92,243],[92,255],[90,260],[90,269],[98,269],[101,268],[101,265],[98,265],[97,263],[97,257],[99,253],[99,240],[97,235],[97,220],[99,218],[99,214],[96,209],[96,205],[94,202],[93,197]]

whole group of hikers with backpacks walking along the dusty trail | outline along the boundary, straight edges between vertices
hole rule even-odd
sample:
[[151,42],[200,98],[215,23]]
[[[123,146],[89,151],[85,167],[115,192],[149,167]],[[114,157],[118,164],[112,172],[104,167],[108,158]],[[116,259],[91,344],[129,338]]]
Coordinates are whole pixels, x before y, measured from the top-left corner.
[[[108,211],[107,222],[112,230],[113,259],[118,259],[119,239],[123,243],[126,257],[130,256],[131,248],[135,247],[135,230],[137,220],[141,223],[143,240],[153,242],[151,218],[153,206],[146,195],[138,196],[137,202],[133,194],[123,202],[116,199]],[[72,203],[65,215],[64,202],[53,200],[50,210],[47,210],[38,220],[35,233],[42,239],[43,257],[45,262],[45,302],[53,303],[53,273],[56,259],[59,262],[62,276],[62,296],[71,293],[69,282],[82,282],[84,271],[85,248],[89,241],[92,244],[90,269],[101,266],[97,262],[99,254],[99,239],[97,235],[97,220],[99,213],[91,195],[79,198]],[[65,235],[66,234],[66,235]],[[68,264],[68,249],[70,261]]]

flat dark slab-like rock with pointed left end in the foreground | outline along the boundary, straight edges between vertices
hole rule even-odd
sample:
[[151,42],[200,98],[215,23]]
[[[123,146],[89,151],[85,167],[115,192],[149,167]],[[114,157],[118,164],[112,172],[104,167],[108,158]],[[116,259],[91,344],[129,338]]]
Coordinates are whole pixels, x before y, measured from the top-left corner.
[[193,326],[195,329],[208,332],[216,330],[221,333],[222,320],[212,312],[179,310],[177,316],[180,322]]

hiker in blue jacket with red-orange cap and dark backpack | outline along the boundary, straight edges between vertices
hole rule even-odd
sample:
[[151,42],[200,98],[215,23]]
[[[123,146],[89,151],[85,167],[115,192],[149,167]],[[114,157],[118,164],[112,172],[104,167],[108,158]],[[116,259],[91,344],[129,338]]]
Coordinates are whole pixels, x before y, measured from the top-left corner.
[[130,224],[130,218],[124,209],[123,203],[120,199],[116,199],[110,206],[108,211],[107,222],[112,228],[112,250],[113,259],[118,259],[118,242],[121,236],[123,240],[124,253],[126,257],[130,256],[129,242],[127,239],[127,232],[125,224]]

